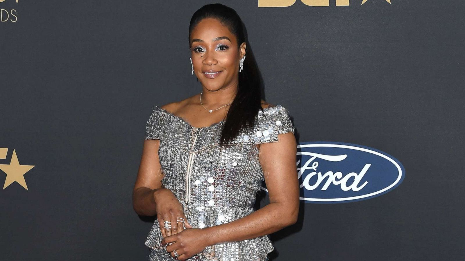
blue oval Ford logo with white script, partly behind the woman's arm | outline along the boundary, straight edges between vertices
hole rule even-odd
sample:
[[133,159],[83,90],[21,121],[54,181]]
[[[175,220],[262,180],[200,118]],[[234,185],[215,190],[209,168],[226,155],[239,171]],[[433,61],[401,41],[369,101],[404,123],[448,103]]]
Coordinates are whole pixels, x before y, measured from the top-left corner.
[[405,177],[404,166],[391,155],[340,142],[299,143],[297,170],[300,199],[308,203],[344,203],[381,196]]

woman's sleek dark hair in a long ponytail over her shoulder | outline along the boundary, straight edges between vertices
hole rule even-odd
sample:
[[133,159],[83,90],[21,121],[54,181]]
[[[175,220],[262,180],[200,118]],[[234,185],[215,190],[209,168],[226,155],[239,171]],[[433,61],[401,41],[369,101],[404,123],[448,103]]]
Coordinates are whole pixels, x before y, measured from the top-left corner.
[[260,105],[262,81],[259,77],[255,57],[247,40],[245,26],[233,8],[223,4],[210,4],[200,7],[191,18],[189,40],[191,39],[193,28],[206,18],[219,20],[223,26],[228,27],[229,31],[237,39],[238,48],[243,42],[246,42],[244,69],[239,72],[238,90],[233,103],[229,107],[226,121],[221,131],[220,145],[225,145],[233,141],[242,130],[252,130],[255,117],[258,111],[262,110]]

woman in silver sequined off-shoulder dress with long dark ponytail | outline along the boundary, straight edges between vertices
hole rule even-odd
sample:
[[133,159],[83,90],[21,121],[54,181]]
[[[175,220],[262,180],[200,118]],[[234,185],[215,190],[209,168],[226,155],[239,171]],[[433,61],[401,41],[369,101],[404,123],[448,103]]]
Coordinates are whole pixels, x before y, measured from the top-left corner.
[[[133,191],[136,213],[157,216],[152,261],[265,261],[268,234],[297,221],[294,127],[286,108],[261,99],[246,42],[232,8],[201,7],[189,50],[202,91],[153,106]],[[263,180],[270,203],[254,211]]]

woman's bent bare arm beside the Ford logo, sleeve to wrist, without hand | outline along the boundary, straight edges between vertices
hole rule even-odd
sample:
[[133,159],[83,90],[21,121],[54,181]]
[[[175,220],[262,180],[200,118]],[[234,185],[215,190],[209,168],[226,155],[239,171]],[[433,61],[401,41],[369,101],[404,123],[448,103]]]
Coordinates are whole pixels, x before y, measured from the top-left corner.
[[259,161],[270,203],[232,222],[203,228],[208,235],[208,245],[272,234],[297,222],[299,179],[296,155],[297,142],[292,133],[279,134],[278,142],[260,144]]

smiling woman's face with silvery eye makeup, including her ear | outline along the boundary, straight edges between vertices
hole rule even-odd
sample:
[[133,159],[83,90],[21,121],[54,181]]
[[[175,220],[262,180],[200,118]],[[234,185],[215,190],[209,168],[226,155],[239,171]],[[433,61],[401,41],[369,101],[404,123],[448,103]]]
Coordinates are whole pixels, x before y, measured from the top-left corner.
[[189,42],[194,73],[204,88],[237,88],[239,60],[246,53],[246,43],[241,43],[239,50],[236,37],[212,18],[201,20],[193,28]]

